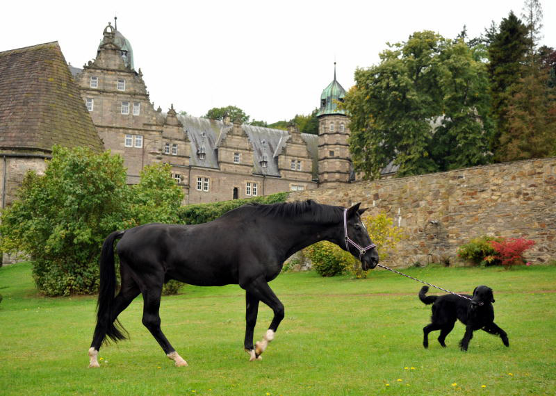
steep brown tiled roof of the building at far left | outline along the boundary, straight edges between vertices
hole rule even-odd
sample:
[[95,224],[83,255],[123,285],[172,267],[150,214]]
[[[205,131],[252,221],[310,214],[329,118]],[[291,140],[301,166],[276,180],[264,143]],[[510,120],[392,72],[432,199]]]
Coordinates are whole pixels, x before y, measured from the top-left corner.
[[58,42],[0,52],[0,149],[103,151]]

